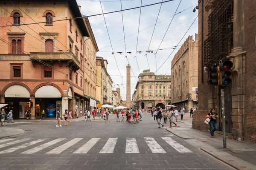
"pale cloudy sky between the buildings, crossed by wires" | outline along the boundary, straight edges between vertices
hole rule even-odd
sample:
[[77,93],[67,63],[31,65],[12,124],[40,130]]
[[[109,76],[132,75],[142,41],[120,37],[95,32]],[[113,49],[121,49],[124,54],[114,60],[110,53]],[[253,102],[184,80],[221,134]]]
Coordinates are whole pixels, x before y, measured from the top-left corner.
[[[152,3],[159,3],[159,2],[162,2],[162,0],[142,0],[142,6],[152,4]],[[119,0],[101,0],[102,8],[99,0],[77,0],[77,3],[79,6],[81,6],[81,13],[86,16],[93,15],[93,14],[102,14],[102,8],[104,13],[121,10],[121,3]],[[179,3],[180,3],[180,6],[178,7]],[[140,6],[140,4],[141,4],[141,0],[122,0],[122,9],[138,7]],[[108,69],[108,74],[110,74],[111,79],[113,80],[113,90],[116,90],[116,88],[118,87],[121,89],[122,100],[126,100],[126,65],[128,65],[128,63],[130,63],[131,69],[132,69],[131,70],[131,97],[132,97],[132,94],[134,93],[138,76],[140,73],[143,72],[143,70],[150,69],[150,71],[155,72],[155,74],[158,74],[158,75],[160,74],[171,75],[172,59],[175,56],[176,52],[178,51],[179,46],[177,46],[177,49],[175,49],[173,53],[172,53],[173,51],[172,48],[176,46],[178,42],[180,42],[181,38],[184,36],[189,26],[191,26],[192,22],[197,17],[198,10],[196,12],[192,11],[196,5],[198,5],[198,0],[181,0],[181,2],[180,0],[173,0],[167,3],[163,3],[159,13],[158,20],[157,20],[157,15],[158,15],[161,4],[143,7],[141,8],[141,14],[140,14],[140,8],[123,11],[122,13],[116,12],[112,14],[105,14],[104,16],[105,16],[107,28],[109,31],[109,37],[112,42],[114,55],[112,54],[112,48],[110,45],[111,43],[108,37],[108,32],[106,29],[103,15],[89,17],[93,34],[95,36],[97,45],[99,47],[99,52],[97,52],[96,55],[98,57],[103,57],[104,59],[108,60],[107,69]],[[175,17],[172,20],[172,16],[175,14],[176,9],[177,9],[176,14],[179,13],[180,11],[182,12],[175,15]],[[122,14],[123,14],[124,27],[122,24]],[[138,36],[137,32],[139,27],[139,18],[140,18],[140,32],[139,32],[138,45],[137,45],[137,36]],[[154,24],[156,23],[156,20],[157,22],[160,22],[160,21],[162,22],[157,23],[154,30]],[[172,23],[169,26],[171,20],[172,20]],[[169,29],[167,29],[168,26],[169,26]],[[123,31],[123,28],[124,28],[124,31]],[[153,30],[154,30],[154,34],[153,34]],[[122,40],[124,39],[124,33],[125,33],[125,37],[130,36],[128,38],[125,38],[125,41]],[[182,45],[189,35],[192,35],[193,39],[195,39],[195,34],[197,33],[198,33],[198,19],[189,29],[189,31],[187,32],[185,37],[181,40],[179,45]],[[152,34],[153,34],[153,37],[149,46],[149,42]],[[162,40],[163,42],[161,43]],[[132,53],[125,54],[125,47],[126,47],[126,52],[132,52]],[[145,54],[147,52],[136,53],[135,52],[136,48],[137,48],[137,51],[150,50],[150,51],[153,51],[153,53],[148,53],[147,54],[148,57],[146,57]],[[157,51],[158,48],[159,49],[167,48],[167,49]],[[122,52],[122,54],[119,54],[117,52]],[[156,52],[157,52],[157,55],[155,54]],[[171,53],[172,55],[169,57]],[[169,57],[169,59],[167,59],[167,57]],[[147,62],[147,58],[148,58],[148,62]],[[149,68],[148,68],[148,63],[149,63]],[[162,64],[163,66],[160,68]],[[159,68],[157,72],[156,72],[157,70],[156,68],[157,69]]]

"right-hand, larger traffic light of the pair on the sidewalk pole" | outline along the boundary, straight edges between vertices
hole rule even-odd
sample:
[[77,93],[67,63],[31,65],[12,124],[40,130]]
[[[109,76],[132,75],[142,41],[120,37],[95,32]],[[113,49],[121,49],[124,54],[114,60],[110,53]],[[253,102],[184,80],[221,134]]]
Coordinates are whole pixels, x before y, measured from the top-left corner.
[[219,85],[230,85],[231,82],[231,68],[233,67],[233,62],[225,61],[220,62],[220,77],[218,81],[221,82]]

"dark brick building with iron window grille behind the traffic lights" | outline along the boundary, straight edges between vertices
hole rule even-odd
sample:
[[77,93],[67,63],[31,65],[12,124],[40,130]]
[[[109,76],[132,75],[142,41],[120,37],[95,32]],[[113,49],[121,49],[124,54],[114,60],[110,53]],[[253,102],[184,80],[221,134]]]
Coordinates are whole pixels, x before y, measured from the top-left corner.
[[[256,143],[255,0],[199,0],[198,37],[204,24],[204,51],[198,48],[198,111],[192,127],[207,130],[207,113],[215,108],[221,115],[220,88],[210,85],[209,67],[220,60],[233,62],[232,83],[226,86],[226,131],[233,139]],[[201,38],[199,44],[201,45]],[[201,66],[203,65],[203,67]],[[204,67],[205,66],[205,67]],[[220,116],[221,117],[221,116]],[[218,128],[222,130],[221,119]]]

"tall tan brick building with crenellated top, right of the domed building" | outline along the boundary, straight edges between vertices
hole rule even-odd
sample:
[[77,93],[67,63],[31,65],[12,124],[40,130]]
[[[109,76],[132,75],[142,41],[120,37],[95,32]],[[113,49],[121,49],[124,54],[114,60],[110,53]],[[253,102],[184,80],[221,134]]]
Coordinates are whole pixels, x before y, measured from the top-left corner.
[[172,59],[171,103],[180,108],[197,108],[198,35],[189,36]]

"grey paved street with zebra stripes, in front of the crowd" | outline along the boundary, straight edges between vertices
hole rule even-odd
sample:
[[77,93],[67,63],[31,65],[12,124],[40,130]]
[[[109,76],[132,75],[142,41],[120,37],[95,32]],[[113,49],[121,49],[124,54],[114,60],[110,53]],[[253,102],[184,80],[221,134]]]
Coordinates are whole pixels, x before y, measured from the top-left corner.
[[157,128],[151,115],[143,113],[143,121],[135,125],[116,122],[115,115],[109,118],[109,123],[73,121],[63,127],[55,122],[14,123],[9,127],[26,132],[0,139],[0,169],[233,170]]

